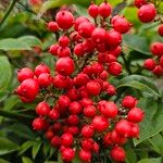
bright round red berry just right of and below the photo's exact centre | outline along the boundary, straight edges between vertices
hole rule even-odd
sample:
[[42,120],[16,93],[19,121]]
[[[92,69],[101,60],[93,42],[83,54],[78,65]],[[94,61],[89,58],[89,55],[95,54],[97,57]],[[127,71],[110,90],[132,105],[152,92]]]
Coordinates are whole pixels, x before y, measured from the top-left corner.
[[90,80],[87,83],[86,89],[90,96],[98,96],[101,91],[101,86],[98,82]]

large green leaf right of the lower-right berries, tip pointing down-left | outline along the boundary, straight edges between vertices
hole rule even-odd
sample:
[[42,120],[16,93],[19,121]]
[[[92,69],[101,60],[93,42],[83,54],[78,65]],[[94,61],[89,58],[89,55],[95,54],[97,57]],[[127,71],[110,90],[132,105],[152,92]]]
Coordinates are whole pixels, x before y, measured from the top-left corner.
[[142,98],[138,106],[145,111],[145,120],[140,123],[139,139],[134,139],[135,146],[163,130],[163,102]]

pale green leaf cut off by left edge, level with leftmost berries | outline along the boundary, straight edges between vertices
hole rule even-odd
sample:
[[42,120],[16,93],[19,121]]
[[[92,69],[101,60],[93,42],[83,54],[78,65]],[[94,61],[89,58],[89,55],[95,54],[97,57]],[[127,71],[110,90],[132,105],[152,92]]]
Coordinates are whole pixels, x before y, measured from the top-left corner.
[[0,57],[0,90],[5,90],[12,76],[11,65],[7,57]]

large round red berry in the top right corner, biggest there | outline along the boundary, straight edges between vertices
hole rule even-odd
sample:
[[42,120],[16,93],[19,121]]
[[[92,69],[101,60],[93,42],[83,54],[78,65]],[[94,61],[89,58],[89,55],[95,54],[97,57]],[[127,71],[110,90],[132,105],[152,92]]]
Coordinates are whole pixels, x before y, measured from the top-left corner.
[[143,4],[138,11],[138,17],[142,23],[150,23],[154,20],[156,10],[152,3]]

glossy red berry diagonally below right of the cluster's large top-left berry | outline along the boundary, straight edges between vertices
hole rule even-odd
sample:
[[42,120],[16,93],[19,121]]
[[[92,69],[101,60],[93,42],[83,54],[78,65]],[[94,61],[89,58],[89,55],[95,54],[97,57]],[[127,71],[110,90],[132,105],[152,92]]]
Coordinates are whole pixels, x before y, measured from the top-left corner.
[[91,37],[91,34],[95,29],[95,25],[90,22],[83,22],[78,26],[78,34],[84,38]]

